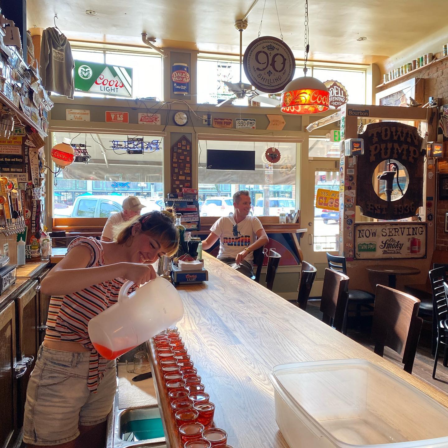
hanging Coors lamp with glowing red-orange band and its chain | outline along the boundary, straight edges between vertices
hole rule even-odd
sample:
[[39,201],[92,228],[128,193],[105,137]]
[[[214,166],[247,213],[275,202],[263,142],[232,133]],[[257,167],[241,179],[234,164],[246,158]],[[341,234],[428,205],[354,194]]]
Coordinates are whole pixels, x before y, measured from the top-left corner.
[[305,67],[302,78],[293,79],[281,95],[280,110],[291,114],[318,113],[328,110],[330,95],[323,82],[311,76],[306,76],[308,69],[308,0],[305,0]]

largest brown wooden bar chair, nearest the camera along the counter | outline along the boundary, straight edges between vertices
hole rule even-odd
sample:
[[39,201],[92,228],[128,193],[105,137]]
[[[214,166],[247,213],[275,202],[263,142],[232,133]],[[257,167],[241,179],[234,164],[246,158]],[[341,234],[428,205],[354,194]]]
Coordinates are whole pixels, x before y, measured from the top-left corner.
[[420,300],[387,286],[377,285],[373,311],[372,339],[375,353],[383,356],[390,347],[402,357],[404,370],[412,373],[423,320],[418,317]]

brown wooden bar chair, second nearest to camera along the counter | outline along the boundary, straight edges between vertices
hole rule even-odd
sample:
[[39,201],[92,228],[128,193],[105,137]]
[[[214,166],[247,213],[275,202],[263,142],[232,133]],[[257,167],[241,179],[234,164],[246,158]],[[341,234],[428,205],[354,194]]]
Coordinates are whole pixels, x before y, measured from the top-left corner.
[[344,316],[347,308],[349,277],[341,272],[325,269],[323,276],[322,299],[320,310],[323,312],[322,321],[342,331]]

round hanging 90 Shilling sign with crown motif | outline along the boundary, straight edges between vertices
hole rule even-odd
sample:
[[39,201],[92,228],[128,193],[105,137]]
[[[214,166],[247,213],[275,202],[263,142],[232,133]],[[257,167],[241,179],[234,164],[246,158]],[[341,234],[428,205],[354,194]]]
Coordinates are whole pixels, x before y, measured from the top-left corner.
[[244,73],[258,90],[281,92],[293,79],[296,61],[291,49],[272,36],[252,41],[244,52]]

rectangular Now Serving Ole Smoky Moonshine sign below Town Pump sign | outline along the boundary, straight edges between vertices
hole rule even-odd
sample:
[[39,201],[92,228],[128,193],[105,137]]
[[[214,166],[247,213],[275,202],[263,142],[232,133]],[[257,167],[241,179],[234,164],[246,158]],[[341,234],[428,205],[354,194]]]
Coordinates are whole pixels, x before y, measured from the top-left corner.
[[426,258],[426,224],[355,224],[355,258]]

